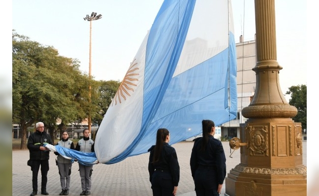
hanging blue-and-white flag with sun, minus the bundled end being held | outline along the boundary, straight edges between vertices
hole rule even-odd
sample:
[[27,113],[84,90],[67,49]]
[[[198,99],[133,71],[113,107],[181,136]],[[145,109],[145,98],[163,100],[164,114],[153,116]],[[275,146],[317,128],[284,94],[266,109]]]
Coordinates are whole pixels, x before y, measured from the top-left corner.
[[236,48],[229,0],[164,0],[98,129],[95,153],[114,164],[236,118]]

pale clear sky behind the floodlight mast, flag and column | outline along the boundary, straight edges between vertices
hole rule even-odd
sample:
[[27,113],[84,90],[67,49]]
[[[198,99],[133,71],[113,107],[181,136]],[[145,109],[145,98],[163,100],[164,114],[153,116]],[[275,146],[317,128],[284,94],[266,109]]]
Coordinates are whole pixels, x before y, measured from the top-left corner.
[[[89,71],[92,12],[102,19],[92,22],[92,76],[97,80],[122,80],[163,0],[13,0],[12,28],[59,54],[80,60]],[[235,39],[253,40],[254,0],[233,0]],[[284,68],[280,84],[306,84],[306,1],[276,0],[277,61]],[[253,71],[252,71],[252,74]],[[293,78],[293,79],[292,79]],[[288,100],[287,100],[288,101]]]

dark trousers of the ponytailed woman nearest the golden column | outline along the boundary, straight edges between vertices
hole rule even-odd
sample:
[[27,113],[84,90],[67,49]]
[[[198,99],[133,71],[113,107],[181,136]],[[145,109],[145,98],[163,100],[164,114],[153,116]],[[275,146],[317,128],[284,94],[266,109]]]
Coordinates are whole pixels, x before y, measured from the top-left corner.
[[198,168],[194,176],[196,196],[219,196],[215,169]]

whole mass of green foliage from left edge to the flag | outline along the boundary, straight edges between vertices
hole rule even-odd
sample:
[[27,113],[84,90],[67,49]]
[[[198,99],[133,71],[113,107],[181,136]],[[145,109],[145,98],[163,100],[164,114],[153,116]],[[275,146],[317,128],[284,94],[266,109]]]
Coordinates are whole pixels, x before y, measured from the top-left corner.
[[12,123],[19,124],[21,149],[32,124],[45,123],[51,137],[67,124],[76,128],[91,116],[102,122],[120,81],[96,81],[79,70],[77,59],[60,56],[52,46],[43,46],[12,31]]

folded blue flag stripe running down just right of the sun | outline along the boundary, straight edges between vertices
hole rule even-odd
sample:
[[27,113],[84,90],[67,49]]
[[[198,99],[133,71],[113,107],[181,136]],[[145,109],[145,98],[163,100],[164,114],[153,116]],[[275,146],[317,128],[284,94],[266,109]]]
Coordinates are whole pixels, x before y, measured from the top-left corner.
[[194,5],[195,0],[164,0],[146,48],[141,131],[130,147],[106,164],[130,156],[152,122],[183,49]]

